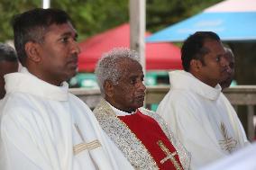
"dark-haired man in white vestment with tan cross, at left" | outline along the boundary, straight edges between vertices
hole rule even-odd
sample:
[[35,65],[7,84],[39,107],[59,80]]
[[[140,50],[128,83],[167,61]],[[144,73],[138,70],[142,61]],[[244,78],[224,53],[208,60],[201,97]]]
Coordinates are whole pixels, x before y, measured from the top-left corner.
[[73,94],[78,67],[77,32],[58,9],[33,9],[13,20],[14,45],[23,68],[5,75],[0,108],[1,170],[133,169]]

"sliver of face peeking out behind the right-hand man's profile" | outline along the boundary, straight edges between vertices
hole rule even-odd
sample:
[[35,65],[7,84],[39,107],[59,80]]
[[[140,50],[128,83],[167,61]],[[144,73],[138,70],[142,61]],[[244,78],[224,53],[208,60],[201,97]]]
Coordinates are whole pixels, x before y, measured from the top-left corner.
[[230,72],[228,72],[227,78],[220,83],[222,88],[227,88],[231,85],[233,76],[234,76],[234,57],[231,51],[226,51],[225,56],[226,60],[228,61],[228,66],[230,67]]

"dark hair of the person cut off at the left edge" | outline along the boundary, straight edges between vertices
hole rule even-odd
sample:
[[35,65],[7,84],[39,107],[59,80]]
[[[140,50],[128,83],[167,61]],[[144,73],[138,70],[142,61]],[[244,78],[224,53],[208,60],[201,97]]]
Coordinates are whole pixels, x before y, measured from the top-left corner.
[[14,48],[8,44],[0,42],[0,61],[15,61],[17,62],[17,54]]

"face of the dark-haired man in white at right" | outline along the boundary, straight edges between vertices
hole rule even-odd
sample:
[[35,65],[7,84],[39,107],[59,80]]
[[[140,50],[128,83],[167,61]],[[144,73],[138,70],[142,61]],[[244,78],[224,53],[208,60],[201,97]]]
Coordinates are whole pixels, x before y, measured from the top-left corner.
[[215,85],[227,78],[231,70],[224,57],[225,51],[221,42],[206,40],[204,47],[209,52],[204,56],[205,65],[200,67],[201,81],[206,85],[215,87]]

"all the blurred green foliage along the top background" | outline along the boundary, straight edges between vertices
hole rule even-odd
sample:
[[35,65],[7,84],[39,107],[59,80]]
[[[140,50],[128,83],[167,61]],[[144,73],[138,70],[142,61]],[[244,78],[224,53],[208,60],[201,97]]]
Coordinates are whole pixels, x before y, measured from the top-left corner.
[[[146,0],[147,30],[158,31],[199,13],[221,0]],[[14,14],[41,7],[42,0],[1,0],[0,41],[13,38],[10,21]],[[129,0],[51,0],[51,7],[69,13],[84,40],[98,32],[129,22]]]

